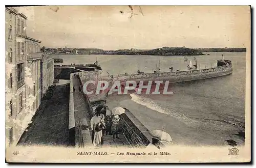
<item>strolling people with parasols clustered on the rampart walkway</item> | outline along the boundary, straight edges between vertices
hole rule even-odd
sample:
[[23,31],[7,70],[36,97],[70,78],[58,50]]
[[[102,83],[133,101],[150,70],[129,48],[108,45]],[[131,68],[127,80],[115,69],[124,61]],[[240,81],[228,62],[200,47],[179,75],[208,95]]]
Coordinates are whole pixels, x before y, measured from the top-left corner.
[[104,134],[113,135],[113,138],[119,138],[119,120],[119,115],[112,115],[112,111],[107,106],[99,105],[95,108],[95,116],[91,119],[92,141],[94,147],[99,147],[103,144]]

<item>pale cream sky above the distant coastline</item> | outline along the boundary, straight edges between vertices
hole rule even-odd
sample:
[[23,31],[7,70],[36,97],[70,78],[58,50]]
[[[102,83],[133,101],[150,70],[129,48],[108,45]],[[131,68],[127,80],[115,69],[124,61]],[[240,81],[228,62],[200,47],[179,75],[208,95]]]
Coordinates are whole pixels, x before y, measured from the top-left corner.
[[[249,47],[249,6],[19,7],[27,35],[46,47]],[[142,12],[141,12],[142,11]],[[131,18],[130,18],[131,17]]]

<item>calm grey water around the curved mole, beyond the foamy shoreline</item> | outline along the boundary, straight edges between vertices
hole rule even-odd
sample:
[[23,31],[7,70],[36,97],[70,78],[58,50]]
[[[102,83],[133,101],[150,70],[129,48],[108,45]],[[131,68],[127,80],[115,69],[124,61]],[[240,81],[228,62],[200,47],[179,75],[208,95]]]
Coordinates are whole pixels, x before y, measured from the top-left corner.
[[[217,66],[222,53],[196,56],[201,69]],[[203,79],[185,83],[172,84],[173,95],[147,95],[136,97],[137,103],[152,104],[157,107],[159,116],[168,114],[189,127],[212,132],[244,131],[245,125],[245,71],[246,53],[224,53],[225,59],[231,60],[233,73],[228,76]],[[145,73],[153,72],[156,64],[162,71],[186,70],[187,62],[181,56],[147,56],[147,55],[54,55],[62,58],[63,64],[88,64],[97,61],[104,73],[137,73],[138,67]],[[194,63],[194,56],[187,56]],[[199,68],[199,67],[198,67]],[[105,73],[106,74],[106,73]],[[134,98],[134,97],[133,97]],[[145,105],[146,106],[146,105]],[[165,128],[171,129],[171,128]],[[227,129],[230,129],[227,130]],[[199,131],[200,132],[200,131]],[[230,135],[231,136],[231,135]],[[231,137],[239,141],[239,137]]]

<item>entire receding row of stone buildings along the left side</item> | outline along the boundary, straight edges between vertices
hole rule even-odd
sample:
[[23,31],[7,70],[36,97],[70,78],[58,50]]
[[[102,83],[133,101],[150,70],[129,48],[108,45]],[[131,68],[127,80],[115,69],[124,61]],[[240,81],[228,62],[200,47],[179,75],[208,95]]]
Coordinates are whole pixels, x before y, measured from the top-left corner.
[[[27,17],[6,10],[6,146],[17,145],[54,80],[54,59],[27,37]],[[44,89],[42,89],[42,86]]]

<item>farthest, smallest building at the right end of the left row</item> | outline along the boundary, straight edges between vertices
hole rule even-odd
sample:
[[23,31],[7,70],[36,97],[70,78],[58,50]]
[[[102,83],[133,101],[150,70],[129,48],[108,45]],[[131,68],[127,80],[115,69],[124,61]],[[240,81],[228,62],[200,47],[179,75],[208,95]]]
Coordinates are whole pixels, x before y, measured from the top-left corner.
[[41,60],[41,97],[44,97],[54,80],[54,58],[42,49]]

